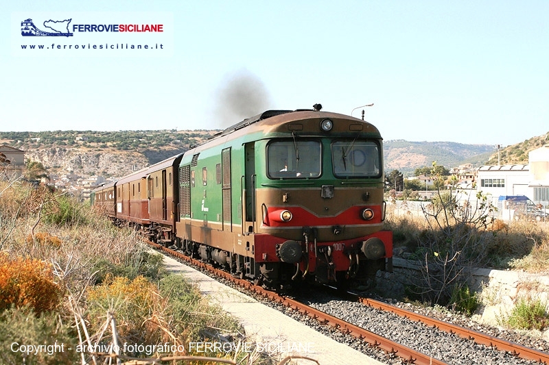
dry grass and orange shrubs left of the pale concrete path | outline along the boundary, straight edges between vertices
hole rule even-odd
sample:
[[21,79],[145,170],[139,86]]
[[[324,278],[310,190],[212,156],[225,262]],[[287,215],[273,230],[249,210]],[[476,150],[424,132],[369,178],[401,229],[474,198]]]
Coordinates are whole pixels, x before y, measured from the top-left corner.
[[[0,307],[0,328],[23,328],[25,321],[35,318],[36,326],[27,326],[28,333],[21,335],[24,340],[44,339],[36,340],[42,343],[64,333],[67,343],[76,344],[186,344],[203,340],[204,335],[198,335],[203,328],[212,333],[215,331],[211,328],[223,328],[227,333],[239,328],[219,308],[196,299],[199,292],[188,284],[177,282],[176,286],[168,286],[172,292],[163,291],[167,284],[161,260],[148,252],[136,231],[118,229],[93,209],[42,187],[0,181],[0,254],[6,263],[0,263],[0,294],[13,293],[13,285],[25,289],[6,302],[12,305],[8,310],[25,314],[3,316],[5,306]],[[38,294],[32,292],[32,286],[26,286],[32,279],[25,278],[34,273],[30,268],[39,269],[36,275],[47,279],[43,281],[51,288],[59,289],[49,290],[51,295],[56,294],[56,300],[38,305],[37,310],[33,310],[35,297],[51,296],[39,294],[45,286],[35,287],[41,290]],[[183,292],[185,295],[181,295]],[[193,295],[189,297],[189,293]],[[54,324],[40,325],[38,312],[53,318]],[[8,318],[12,318],[9,323]],[[12,353],[9,348],[0,349],[0,353],[7,356],[0,362],[23,363],[21,353]],[[78,357],[78,362],[103,362],[91,353],[78,353]],[[36,357],[24,361],[39,364],[41,360]]]

